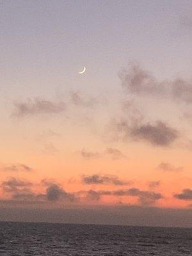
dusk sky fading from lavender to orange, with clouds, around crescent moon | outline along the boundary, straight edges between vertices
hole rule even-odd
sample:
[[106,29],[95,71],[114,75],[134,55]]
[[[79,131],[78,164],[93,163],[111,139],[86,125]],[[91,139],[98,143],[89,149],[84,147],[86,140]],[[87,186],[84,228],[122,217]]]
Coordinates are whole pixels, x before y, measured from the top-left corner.
[[0,28],[0,220],[192,227],[192,2],[6,0]]

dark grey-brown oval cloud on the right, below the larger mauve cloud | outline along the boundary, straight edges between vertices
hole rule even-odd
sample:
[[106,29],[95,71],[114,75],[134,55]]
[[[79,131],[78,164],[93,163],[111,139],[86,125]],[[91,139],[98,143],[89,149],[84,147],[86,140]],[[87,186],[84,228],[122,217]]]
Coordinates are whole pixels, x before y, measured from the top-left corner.
[[179,132],[166,123],[157,121],[154,124],[141,124],[133,122],[128,124],[127,120],[116,122],[116,131],[122,134],[122,139],[132,138],[133,140],[143,140],[148,143],[159,146],[168,147],[173,141],[179,138]]

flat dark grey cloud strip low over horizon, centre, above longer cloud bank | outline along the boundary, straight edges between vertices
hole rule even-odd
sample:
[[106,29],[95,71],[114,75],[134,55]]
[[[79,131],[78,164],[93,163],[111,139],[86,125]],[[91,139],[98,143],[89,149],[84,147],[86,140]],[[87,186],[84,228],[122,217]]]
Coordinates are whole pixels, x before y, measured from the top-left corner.
[[113,184],[115,186],[124,186],[131,183],[125,180],[120,180],[115,175],[99,175],[99,174],[83,176],[82,181],[84,184]]

